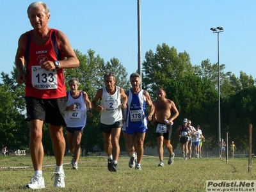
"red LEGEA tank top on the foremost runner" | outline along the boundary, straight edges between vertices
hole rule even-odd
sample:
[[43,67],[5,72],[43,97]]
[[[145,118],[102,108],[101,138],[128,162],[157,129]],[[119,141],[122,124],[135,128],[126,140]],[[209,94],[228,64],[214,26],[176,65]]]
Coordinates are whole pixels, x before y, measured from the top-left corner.
[[24,52],[26,63],[26,96],[39,99],[56,99],[66,96],[64,69],[47,71],[41,68],[44,61],[63,60],[56,37],[57,30],[51,29],[49,40],[44,45],[36,45],[32,31],[26,32],[27,43]]

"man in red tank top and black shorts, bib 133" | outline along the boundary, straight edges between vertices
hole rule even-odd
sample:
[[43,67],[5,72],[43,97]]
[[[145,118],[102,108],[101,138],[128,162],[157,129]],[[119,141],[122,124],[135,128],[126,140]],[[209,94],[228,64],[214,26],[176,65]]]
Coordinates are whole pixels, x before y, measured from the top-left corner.
[[17,81],[26,84],[29,152],[35,172],[26,187],[34,190],[45,188],[42,138],[44,123],[49,123],[56,160],[53,185],[56,188],[65,188],[65,68],[79,67],[79,60],[67,36],[60,30],[49,27],[50,10],[47,4],[35,1],[29,4],[26,11],[32,29],[20,35],[15,55]]

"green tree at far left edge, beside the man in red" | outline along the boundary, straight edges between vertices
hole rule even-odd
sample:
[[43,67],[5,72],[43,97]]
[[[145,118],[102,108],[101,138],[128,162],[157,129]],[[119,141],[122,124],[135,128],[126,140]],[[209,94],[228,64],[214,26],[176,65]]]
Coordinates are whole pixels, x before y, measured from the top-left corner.
[[13,69],[12,78],[1,72],[3,83],[0,86],[0,143],[9,149],[27,147],[28,123],[24,121],[24,85],[17,84],[15,75],[17,70]]

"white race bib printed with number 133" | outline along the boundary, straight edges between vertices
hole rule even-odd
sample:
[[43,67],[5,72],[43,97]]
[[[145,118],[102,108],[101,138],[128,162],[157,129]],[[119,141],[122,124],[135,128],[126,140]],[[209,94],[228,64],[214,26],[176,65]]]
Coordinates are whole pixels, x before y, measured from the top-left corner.
[[40,65],[31,67],[32,84],[38,90],[58,88],[57,70],[44,70]]

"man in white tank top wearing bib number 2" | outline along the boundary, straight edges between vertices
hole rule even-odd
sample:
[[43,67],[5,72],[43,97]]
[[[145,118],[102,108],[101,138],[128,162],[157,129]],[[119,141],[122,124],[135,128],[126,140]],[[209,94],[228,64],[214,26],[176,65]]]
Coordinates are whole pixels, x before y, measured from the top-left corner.
[[122,108],[127,108],[127,96],[124,89],[115,86],[115,82],[115,74],[106,73],[104,75],[105,86],[97,91],[92,100],[92,108],[100,112],[100,129],[103,133],[104,148],[108,154],[109,172],[117,170],[120,154],[119,138],[123,125]]

